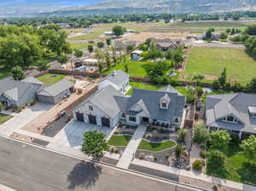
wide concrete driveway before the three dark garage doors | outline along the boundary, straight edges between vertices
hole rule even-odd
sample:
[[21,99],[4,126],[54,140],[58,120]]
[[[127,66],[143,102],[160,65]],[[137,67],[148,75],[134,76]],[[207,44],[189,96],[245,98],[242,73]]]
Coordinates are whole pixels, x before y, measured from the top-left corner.
[[72,120],[54,137],[54,142],[62,146],[81,148],[84,132],[92,130],[104,133],[108,139],[114,129]]

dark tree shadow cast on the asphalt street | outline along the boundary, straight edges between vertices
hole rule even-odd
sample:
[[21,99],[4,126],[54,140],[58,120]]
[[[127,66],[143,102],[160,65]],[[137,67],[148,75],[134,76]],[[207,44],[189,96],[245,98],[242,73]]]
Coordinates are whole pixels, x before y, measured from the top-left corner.
[[99,180],[101,174],[101,166],[81,161],[73,167],[73,170],[67,176],[68,189],[74,190],[76,187],[91,188]]

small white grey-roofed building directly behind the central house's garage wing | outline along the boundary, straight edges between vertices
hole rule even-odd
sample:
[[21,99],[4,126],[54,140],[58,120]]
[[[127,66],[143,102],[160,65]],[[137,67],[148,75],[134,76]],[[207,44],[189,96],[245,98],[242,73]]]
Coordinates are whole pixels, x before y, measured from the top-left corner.
[[122,70],[113,71],[99,82],[98,89],[101,90],[108,85],[112,85],[116,90],[119,90],[119,92],[125,95],[125,93],[131,88],[129,78],[130,76]]

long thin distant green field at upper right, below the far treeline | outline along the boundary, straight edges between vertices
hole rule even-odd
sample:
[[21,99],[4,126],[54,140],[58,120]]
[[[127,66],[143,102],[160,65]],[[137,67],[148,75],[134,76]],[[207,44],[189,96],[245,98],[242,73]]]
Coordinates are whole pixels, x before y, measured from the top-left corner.
[[213,27],[215,30],[225,30],[226,28],[240,28],[243,30],[249,23],[246,21],[186,21],[168,23],[162,26],[150,28],[148,32],[204,32]]

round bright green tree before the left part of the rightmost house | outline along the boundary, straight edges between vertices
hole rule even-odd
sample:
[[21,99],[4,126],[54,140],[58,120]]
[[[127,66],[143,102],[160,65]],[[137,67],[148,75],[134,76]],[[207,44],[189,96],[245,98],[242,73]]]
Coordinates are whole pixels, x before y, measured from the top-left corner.
[[209,141],[211,148],[221,150],[228,148],[231,137],[226,130],[218,130],[210,134]]

